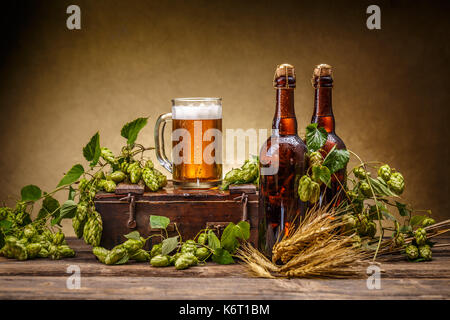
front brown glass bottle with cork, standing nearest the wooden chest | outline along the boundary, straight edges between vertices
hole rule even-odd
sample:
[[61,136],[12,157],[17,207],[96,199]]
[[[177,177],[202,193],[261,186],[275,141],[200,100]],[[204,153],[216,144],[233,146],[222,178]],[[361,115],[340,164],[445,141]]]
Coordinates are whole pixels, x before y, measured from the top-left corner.
[[267,256],[304,210],[297,188],[306,169],[306,145],[297,135],[294,109],[295,71],[277,67],[274,78],[276,107],[272,135],[260,152],[259,248]]

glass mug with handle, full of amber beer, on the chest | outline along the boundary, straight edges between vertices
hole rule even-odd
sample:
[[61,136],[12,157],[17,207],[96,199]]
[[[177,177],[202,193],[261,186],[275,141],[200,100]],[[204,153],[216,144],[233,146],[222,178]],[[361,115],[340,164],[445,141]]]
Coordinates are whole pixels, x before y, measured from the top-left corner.
[[[164,128],[172,120],[172,162],[165,154]],[[176,188],[204,189],[222,181],[222,99],[178,98],[172,113],[155,125],[156,158],[172,173]]]

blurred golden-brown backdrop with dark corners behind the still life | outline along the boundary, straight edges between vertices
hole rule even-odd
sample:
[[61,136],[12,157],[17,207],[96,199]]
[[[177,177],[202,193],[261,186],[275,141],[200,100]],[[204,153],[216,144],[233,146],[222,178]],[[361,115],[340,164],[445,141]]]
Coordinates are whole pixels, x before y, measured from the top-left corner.
[[[81,8],[81,30],[66,28],[70,4]],[[370,4],[381,7],[381,30],[366,28]],[[153,123],[174,97],[219,96],[224,128],[270,128],[273,72],[284,62],[296,67],[303,134],[313,67],[328,63],[347,147],[399,169],[415,207],[450,216],[444,2],[76,0],[6,8],[0,199],[17,198],[26,184],[52,190],[73,164],[86,167],[81,149],[97,130],[118,152],[122,125],[150,116],[139,141],[153,145]]]

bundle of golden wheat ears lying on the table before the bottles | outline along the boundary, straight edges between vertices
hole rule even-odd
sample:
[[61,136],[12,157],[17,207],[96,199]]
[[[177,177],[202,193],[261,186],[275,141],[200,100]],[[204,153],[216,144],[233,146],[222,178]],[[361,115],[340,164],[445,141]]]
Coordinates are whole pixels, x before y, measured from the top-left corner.
[[[294,230],[273,248],[272,261],[246,244],[238,250],[248,270],[258,277],[346,278],[364,270],[367,255],[353,247],[353,235],[340,235],[336,209],[309,210]],[[276,262],[281,261],[281,265]]]

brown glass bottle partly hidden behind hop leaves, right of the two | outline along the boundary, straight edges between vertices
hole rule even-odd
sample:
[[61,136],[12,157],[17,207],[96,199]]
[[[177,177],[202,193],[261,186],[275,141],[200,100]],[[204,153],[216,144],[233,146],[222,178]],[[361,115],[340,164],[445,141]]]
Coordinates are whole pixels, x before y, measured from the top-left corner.
[[[312,84],[314,86],[314,113],[311,123],[317,123],[318,127],[323,127],[328,132],[328,139],[322,148],[323,157],[336,146],[336,149],[346,149],[344,141],[335,132],[335,120],[333,115],[332,90],[333,77],[332,68],[327,64],[320,64],[314,69]],[[346,182],[346,170],[343,168],[331,177],[330,188],[322,186],[320,205],[326,205],[333,201],[333,205],[338,205],[344,194],[339,192]]]

